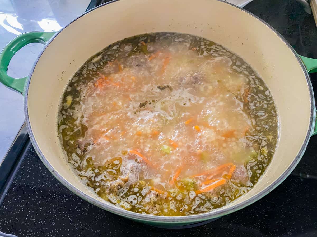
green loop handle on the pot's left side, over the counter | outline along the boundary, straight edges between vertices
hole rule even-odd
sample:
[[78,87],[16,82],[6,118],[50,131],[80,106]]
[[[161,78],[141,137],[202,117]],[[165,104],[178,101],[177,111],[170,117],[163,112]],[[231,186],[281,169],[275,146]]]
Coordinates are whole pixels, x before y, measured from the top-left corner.
[[9,63],[13,55],[22,47],[30,43],[46,44],[56,32],[27,32],[18,35],[4,47],[0,53],[0,82],[6,87],[23,94],[27,76],[15,79],[7,74]]

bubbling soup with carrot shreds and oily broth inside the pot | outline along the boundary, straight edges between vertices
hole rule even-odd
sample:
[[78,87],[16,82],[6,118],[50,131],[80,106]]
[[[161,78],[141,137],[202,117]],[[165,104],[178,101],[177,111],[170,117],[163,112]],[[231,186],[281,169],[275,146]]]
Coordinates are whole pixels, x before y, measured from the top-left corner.
[[274,100],[242,58],[197,36],[151,33],[90,58],[62,97],[68,162],[104,200],[164,216],[248,192],[278,137]]

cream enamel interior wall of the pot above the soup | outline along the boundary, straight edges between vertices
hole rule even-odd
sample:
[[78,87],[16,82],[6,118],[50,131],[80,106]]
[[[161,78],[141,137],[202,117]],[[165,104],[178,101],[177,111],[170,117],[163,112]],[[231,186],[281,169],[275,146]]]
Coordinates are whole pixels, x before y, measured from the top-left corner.
[[[198,35],[242,56],[268,84],[280,117],[275,156],[259,183],[234,204],[271,185],[288,169],[309,133],[311,100],[301,64],[268,26],[216,0],[120,0],[83,15],[51,41],[37,62],[27,93],[28,116],[36,143],[63,179],[93,196],[69,170],[59,149],[56,113],[73,73],[109,44],[136,34],[171,31]],[[93,196],[94,197],[94,196]],[[212,218],[212,214],[210,218]]]

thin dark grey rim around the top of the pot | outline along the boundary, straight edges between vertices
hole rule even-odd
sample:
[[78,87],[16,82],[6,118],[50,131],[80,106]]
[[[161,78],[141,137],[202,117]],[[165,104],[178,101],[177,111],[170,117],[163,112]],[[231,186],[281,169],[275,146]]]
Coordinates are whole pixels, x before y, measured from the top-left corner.
[[135,213],[132,211],[128,211],[119,207],[116,207],[112,204],[108,204],[107,202],[102,202],[99,201],[95,198],[93,198],[92,196],[89,196],[87,193],[80,191],[79,189],[77,189],[75,186],[71,185],[70,183],[68,183],[68,181],[66,179],[64,179],[59,173],[55,172],[54,167],[49,163],[49,161],[45,158],[45,156],[43,155],[42,151],[40,150],[40,148],[38,147],[38,144],[36,143],[35,140],[35,136],[32,132],[31,129],[31,125],[30,125],[30,121],[29,121],[29,114],[28,114],[28,93],[29,93],[29,84],[30,84],[30,80],[32,77],[32,74],[34,72],[34,69],[36,67],[36,64],[38,62],[38,60],[41,58],[43,52],[45,51],[45,49],[49,46],[49,44],[51,43],[52,40],[55,39],[55,37],[61,33],[61,31],[63,31],[66,27],[68,27],[71,23],[73,23],[74,21],[78,20],[79,18],[81,18],[82,16],[90,13],[91,11],[100,8],[100,7],[105,7],[107,4],[110,3],[114,3],[120,0],[113,0],[110,1],[108,3],[104,3],[101,4],[83,14],[81,14],[80,16],[78,16],[77,18],[75,18],[73,21],[69,22],[65,27],[62,27],[61,30],[59,30],[48,42],[47,44],[44,46],[42,52],[39,54],[39,56],[36,58],[35,63],[32,66],[32,69],[30,70],[25,88],[24,88],[24,116],[25,116],[25,122],[26,122],[26,127],[29,133],[29,137],[30,140],[36,150],[37,155],[40,157],[40,159],[42,160],[42,162],[44,163],[44,165],[49,169],[49,171],[55,176],[56,179],[58,179],[65,187],[67,187],[70,191],[72,191],[74,194],[76,194],[77,196],[83,198],[84,200],[86,200],[87,202],[94,204],[104,210],[110,211],[114,214],[120,215],[120,216],[124,216],[127,218],[131,218],[131,219],[137,219],[137,220],[142,220],[142,221],[149,221],[149,222],[161,222],[161,223],[187,223],[187,222],[199,222],[199,221],[204,221],[204,220],[209,220],[209,219],[213,219],[213,218],[217,218],[220,216],[224,216],[227,214],[230,214],[234,211],[240,210],[254,202],[256,202],[257,200],[259,200],[260,198],[264,197],[266,194],[268,194],[270,191],[272,191],[273,189],[275,189],[279,184],[281,184],[282,181],[284,181],[284,179],[286,179],[288,177],[288,175],[294,170],[294,168],[296,167],[296,165],[298,164],[298,162],[301,160],[301,157],[303,156],[306,148],[307,148],[307,144],[309,141],[309,138],[311,136],[311,132],[313,129],[313,124],[314,124],[314,120],[315,120],[315,104],[314,104],[314,92],[313,92],[313,88],[312,88],[312,84],[310,81],[310,78],[308,76],[308,72],[304,66],[304,64],[302,63],[300,57],[298,56],[298,54],[295,52],[295,50],[290,46],[290,44],[281,36],[280,33],[278,33],[273,27],[271,27],[270,25],[268,25],[268,23],[266,23],[265,21],[263,21],[262,19],[260,19],[259,17],[257,17],[256,15],[250,13],[249,11],[239,8],[236,5],[233,5],[231,3],[228,2],[224,2],[222,0],[217,0],[223,4],[229,4],[237,9],[240,9],[244,12],[246,12],[247,14],[252,15],[255,20],[261,21],[264,25],[266,25],[270,30],[272,30],[277,37],[279,37],[284,44],[286,44],[288,46],[288,48],[293,52],[295,58],[297,59],[298,63],[301,65],[301,69],[305,75],[306,78],[306,82],[307,82],[307,86],[309,89],[309,97],[310,97],[310,121],[309,121],[309,127],[308,127],[308,132],[307,135],[304,139],[304,142],[301,146],[301,149],[299,150],[298,154],[296,155],[296,157],[294,158],[293,162],[289,165],[289,167],[284,171],[284,173],[281,174],[281,176],[276,179],[271,185],[267,186],[266,188],[264,188],[262,191],[258,192],[256,195],[254,195],[253,197],[238,203],[238,204],[233,204],[232,206],[226,208],[219,208],[216,210],[213,210],[211,212],[207,212],[207,213],[203,213],[203,214],[196,214],[196,215],[191,215],[191,216],[152,216],[149,214],[140,214],[140,213]]

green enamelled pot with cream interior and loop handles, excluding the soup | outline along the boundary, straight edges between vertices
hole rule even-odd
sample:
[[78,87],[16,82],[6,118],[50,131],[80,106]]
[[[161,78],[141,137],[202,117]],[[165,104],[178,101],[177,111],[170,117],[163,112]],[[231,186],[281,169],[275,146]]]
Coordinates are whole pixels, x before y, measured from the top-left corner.
[[[105,202],[82,185],[61,152],[56,116],[68,79],[88,58],[109,44],[154,31],[198,35],[229,48],[259,73],[276,102],[279,140],[266,173],[247,194],[221,209],[175,217],[124,210]],[[12,56],[34,42],[46,45],[29,76],[21,79],[8,76]],[[213,220],[254,203],[292,172],[309,138],[316,133],[314,94],[308,72],[317,71],[317,60],[297,55],[268,24],[223,1],[197,0],[195,4],[191,0],[113,1],[86,12],[55,34],[30,32],[19,35],[4,48],[0,60],[0,81],[24,95],[29,137],[49,171],[88,202],[153,226],[171,228]]]

